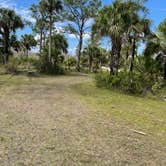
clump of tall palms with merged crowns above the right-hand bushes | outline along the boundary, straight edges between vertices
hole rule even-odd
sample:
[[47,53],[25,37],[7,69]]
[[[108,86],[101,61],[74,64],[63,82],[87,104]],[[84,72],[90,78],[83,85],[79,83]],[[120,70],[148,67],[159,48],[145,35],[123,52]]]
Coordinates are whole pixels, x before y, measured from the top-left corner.
[[[148,33],[149,25],[146,17],[146,8],[142,1],[115,0],[110,6],[103,8],[95,20],[94,32],[101,36],[109,36],[112,44],[110,55],[110,74],[118,72],[121,58],[121,49],[127,43],[132,45],[132,67],[136,53],[137,40],[142,33]],[[143,18],[142,18],[143,16]],[[125,43],[124,43],[125,41]]]

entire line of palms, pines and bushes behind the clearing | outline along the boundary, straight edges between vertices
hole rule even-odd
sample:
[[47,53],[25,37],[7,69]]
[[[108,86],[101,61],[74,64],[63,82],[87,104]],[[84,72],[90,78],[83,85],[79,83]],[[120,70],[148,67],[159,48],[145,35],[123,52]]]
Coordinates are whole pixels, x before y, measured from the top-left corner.
[[[35,24],[1,8],[2,63],[8,63],[13,49],[28,57],[28,51],[39,45],[37,68],[41,72],[62,73],[64,66],[66,70],[75,66],[77,71],[89,72],[104,69],[109,73],[96,77],[100,86],[139,93],[162,88],[166,80],[166,20],[152,31],[145,2],[114,0],[102,7],[100,0],[40,0],[30,7]],[[58,32],[56,22],[64,22],[63,32]],[[33,35],[17,40],[16,30],[27,24],[32,26]],[[68,56],[65,33],[78,39],[76,57]],[[84,47],[87,33],[90,39]],[[100,44],[105,38],[110,40],[107,50]]]

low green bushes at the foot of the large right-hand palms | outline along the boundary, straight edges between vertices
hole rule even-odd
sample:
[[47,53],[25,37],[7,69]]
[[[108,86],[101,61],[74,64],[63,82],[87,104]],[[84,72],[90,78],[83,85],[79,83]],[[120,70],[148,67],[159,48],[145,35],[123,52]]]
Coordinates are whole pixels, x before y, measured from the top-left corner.
[[99,73],[95,76],[96,85],[108,89],[118,89],[130,94],[143,94],[151,91],[154,80],[142,73],[119,72],[118,75]]

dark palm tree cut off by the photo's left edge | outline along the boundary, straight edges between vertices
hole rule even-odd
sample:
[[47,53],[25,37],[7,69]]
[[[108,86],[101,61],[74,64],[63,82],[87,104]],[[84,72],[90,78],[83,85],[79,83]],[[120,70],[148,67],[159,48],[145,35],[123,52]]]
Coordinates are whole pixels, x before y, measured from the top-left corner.
[[10,35],[15,33],[16,29],[23,28],[24,23],[20,16],[13,10],[0,8],[0,34],[3,38],[4,58],[3,63],[6,64],[10,52]]

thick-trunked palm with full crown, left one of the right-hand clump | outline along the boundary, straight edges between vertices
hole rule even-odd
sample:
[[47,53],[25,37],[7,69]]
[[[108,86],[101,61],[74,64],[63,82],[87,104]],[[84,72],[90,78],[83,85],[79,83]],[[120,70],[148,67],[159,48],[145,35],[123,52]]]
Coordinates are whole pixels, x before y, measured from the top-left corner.
[[110,55],[110,74],[115,74],[119,68],[122,39],[124,34],[124,21],[122,17],[122,2],[116,0],[112,5],[104,7],[93,25],[93,32],[99,36],[109,36],[112,44]]

